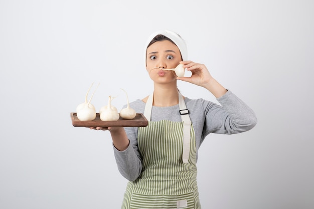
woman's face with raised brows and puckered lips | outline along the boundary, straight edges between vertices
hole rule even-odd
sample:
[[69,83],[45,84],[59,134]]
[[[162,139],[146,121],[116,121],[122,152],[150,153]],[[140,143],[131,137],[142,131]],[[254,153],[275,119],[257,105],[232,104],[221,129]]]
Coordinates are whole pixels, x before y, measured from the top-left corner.
[[152,80],[155,79],[176,79],[174,71],[167,71],[153,68],[176,68],[182,61],[179,48],[168,40],[158,41],[147,48],[146,70]]

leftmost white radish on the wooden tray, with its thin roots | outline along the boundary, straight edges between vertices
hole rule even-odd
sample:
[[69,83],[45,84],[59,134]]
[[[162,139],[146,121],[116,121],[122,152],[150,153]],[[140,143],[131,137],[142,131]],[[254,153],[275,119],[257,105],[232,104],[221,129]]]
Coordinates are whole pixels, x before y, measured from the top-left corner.
[[[92,83],[93,85],[94,83]],[[95,110],[95,107],[94,105],[92,105],[90,102],[94,96],[94,93],[96,92],[99,84],[97,85],[96,89],[94,90],[92,96],[90,97],[89,101],[87,102],[87,96],[88,96],[88,93],[92,87],[92,85],[89,87],[88,91],[87,91],[87,94],[85,96],[85,102],[82,103],[82,104],[79,104],[77,107],[76,107],[76,115],[77,115],[77,118],[81,121],[90,121],[90,120],[94,120],[96,118],[96,110]]]

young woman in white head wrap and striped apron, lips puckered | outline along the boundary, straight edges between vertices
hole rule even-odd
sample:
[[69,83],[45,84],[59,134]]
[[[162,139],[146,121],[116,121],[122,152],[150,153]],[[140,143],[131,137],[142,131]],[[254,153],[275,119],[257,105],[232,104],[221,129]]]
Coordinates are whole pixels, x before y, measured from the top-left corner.
[[[118,169],[129,180],[122,208],[201,208],[196,180],[201,143],[209,133],[248,131],[255,126],[256,116],[205,65],[187,60],[185,42],[178,34],[156,32],[145,49],[154,90],[130,106],[144,114],[148,126],[92,129],[110,131]],[[162,70],[178,64],[192,76],[179,78],[173,71]],[[221,106],[182,96],[177,80],[204,87]]]

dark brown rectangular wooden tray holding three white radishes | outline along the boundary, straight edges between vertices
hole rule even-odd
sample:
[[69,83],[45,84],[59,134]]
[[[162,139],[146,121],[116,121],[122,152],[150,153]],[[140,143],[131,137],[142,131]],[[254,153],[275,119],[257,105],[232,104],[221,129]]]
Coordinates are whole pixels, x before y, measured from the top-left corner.
[[136,113],[134,119],[127,120],[120,117],[117,121],[102,121],[99,113],[96,113],[96,118],[91,121],[80,121],[77,118],[76,112],[71,112],[72,125],[75,127],[144,127],[148,125],[147,119],[142,113]]

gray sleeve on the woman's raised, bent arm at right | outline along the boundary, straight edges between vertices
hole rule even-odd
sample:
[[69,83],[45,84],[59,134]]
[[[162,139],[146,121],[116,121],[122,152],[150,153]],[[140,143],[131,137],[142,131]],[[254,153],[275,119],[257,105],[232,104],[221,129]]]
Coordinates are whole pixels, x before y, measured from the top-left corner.
[[252,129],[257,118],[253,110],[241,99],[228,90],[220,98],[217,98],[220,105],[209,105],[206,108],[205,134],[234,134]]

